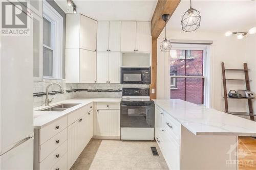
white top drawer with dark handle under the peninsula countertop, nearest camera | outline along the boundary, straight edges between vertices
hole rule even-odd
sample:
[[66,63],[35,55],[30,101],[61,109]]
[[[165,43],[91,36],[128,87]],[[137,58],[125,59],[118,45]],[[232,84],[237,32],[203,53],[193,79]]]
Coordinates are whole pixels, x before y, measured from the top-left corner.
[[179,144],[180,140],[180,124],[174,119],[172,118],[170,115],[168,115],[168,113],[164,112],[163,115],[163,126],[164,129],[166,130],[167,133],[169,133],[169,135],[171,135]]

